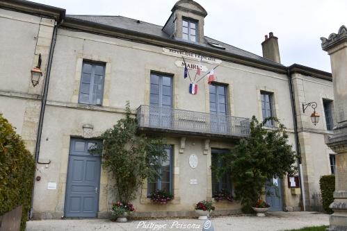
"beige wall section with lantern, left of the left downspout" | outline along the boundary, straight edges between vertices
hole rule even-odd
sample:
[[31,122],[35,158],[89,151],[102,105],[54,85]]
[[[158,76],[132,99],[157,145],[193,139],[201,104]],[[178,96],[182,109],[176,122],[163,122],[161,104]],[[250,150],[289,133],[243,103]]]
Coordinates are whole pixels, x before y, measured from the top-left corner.
[[54,19],[0,9],[0,113],[34,152],[44,77],[33,87],[31,69],[42,56],[45,76]]

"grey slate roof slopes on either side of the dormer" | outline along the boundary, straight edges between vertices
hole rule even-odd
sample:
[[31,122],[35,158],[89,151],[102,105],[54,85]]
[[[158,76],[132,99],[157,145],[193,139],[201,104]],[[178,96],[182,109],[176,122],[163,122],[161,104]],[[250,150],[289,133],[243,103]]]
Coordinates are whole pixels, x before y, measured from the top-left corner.
[[[163,26],[150,24],[148,22],[138,21],[136,19],[131,19],[128,17],[122,17],[122,16],[104,16],[104,15],[67,15],[67,18],[72,19],[79,19],[86,22],[92,22],[95,24],[102,24],[105,26],[113,26],[115,28],[122,28],[129,31],[134,32],[140,32],[140,33],[146,33],[149,35],[154,35],[158,37],[163,37],[168,40],[174,40],[173,38],[170,38],[168,34],[162,31]],[[243,49],[239,49],[235,46],[226,44],[224,42],[220,42],[218,40],[213,40],[211,37],[205,36],[205,41],[203,44],[199,44],[204,47],[209,47],[210,49],[216,49],[217,51],[221,51],[220,48],[216,48],[214,46],[211,46],[208,42],[213,42],[216,44],[219,44],[220,46],[223,46],[225,48],[225,51],[227,53],[232,53],[235,55],[241,55],[246,58],[252,58],[261,62],[265,62],[267,64],[271,65],[280,65],[277,62],[273,62],[272,60],[268,60],[266,58],[263,58],[259,55],[255,55],[254,53],[250,53],[248,51],[244,51]],[[281,65],[282,66],[282,65]]]

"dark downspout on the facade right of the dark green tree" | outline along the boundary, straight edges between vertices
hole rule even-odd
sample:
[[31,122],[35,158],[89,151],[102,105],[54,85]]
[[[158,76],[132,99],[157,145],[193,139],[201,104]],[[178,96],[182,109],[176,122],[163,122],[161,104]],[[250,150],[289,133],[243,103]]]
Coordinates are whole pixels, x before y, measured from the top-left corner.
[[294,140],[296,144],[296,153],[297,153],[297,164],[298,164],[298,174],[300,178],[300,205],[303,207],[303,210],[306,210],[306,203],[305,203],[305,188],[303,185],[303,178],[302,178],[302,165],[301,165],[301,151],[300,151],[300,142],[299,142],[299,136],[298,136],[298,121],[296,117],[296,105],[295,105],[295,96],[293,91],[293,80],[291,78],[291,71],[289,67],[287,67],[287,76],[289,79],[289,92],[291,95],[291,110],[293,114],[293,123],[294,123]]

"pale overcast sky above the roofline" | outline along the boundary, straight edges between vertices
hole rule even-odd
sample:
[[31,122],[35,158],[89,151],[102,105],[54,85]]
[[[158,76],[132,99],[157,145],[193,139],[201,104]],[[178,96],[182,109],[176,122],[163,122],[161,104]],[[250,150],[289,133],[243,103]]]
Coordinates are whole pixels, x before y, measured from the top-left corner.
[[[34,0],[72,15],[122,15],[163,26],[177,0]],[[196,0],[207,10],[204,34],[262,55],[264,35],[278,37],[283,65],[331,71],[320,37],[347,26],[347,0]]]

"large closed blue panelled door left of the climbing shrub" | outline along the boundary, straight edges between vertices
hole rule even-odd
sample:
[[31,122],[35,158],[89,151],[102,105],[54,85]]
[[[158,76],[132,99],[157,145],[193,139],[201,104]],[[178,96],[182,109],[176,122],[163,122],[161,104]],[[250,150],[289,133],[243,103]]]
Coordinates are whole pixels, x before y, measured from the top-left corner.
[[99,205],[100,155],[88,149],[95,141],[72,139],[65,195],[65,217],[97,217]]

